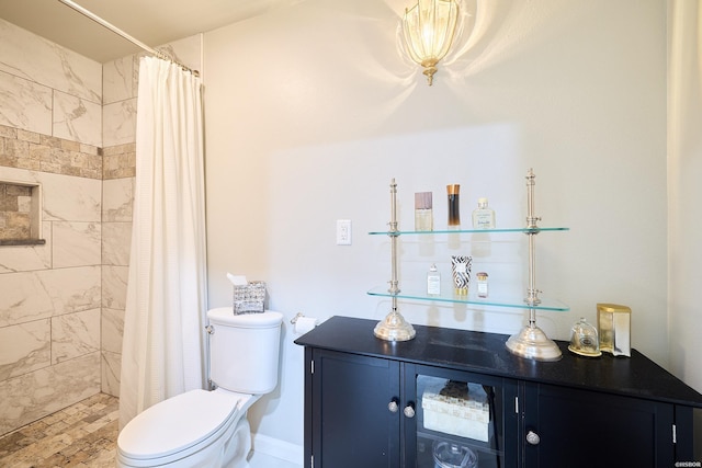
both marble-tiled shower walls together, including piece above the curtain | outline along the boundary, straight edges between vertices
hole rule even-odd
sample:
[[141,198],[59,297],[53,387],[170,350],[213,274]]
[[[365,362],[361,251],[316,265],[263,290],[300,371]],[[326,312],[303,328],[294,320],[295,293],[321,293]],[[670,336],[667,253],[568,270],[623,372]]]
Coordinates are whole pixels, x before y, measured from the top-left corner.
[[[1,435],[118,396],[139,56],[101,65],[2,19],[0,43],[0,181],[42,184],[46,239],[0,247]],[[161,48],[200,65],[199,36]]]

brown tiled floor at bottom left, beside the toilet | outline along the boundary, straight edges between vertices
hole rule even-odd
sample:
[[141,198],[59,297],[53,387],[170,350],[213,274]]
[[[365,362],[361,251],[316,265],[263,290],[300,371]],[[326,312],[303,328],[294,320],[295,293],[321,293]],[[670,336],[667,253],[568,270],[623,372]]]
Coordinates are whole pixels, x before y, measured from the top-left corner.
[[0,437],[0,467],[114,467],[118,399],[94,395]]

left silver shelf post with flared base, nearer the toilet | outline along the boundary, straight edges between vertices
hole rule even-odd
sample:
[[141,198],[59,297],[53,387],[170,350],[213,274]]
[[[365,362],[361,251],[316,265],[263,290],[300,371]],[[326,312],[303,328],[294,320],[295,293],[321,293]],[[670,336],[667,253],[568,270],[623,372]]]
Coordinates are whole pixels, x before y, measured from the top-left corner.
[[408,341],[415,338],[415,328],[405,320],[397,311],[397,295],[399,294],[399,282],[397,281],[397,238],[399,230],[397,229],[397,184],[395,179],[390,181],[390,221],[388,236],[390,238],[390,287],[388,293],[392,295],[392,310],[380,321],[373,333],[375,336],[386,341]]

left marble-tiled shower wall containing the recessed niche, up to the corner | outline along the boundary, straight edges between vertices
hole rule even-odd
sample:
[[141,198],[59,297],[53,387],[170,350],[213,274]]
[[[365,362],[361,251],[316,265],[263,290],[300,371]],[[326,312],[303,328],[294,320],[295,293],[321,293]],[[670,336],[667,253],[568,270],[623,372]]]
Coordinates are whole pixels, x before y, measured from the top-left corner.
[[102,66],[0,20],[0,180],[44,246],[0,247],[0,434],[101,388]]

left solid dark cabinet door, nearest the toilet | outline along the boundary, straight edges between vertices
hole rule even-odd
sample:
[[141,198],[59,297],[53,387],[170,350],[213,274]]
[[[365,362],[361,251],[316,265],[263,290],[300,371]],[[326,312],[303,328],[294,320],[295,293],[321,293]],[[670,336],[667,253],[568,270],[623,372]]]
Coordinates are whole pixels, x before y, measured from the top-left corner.
[[[314,350],[312,457],[315,468],[397,468],[399,364]],[[305,460],[305,465],[312,465]]]

